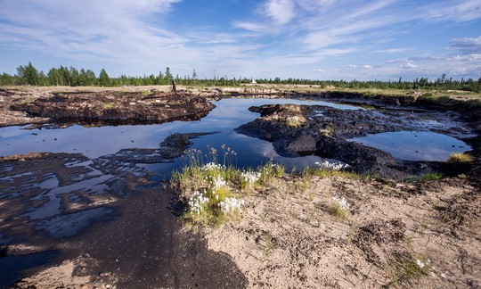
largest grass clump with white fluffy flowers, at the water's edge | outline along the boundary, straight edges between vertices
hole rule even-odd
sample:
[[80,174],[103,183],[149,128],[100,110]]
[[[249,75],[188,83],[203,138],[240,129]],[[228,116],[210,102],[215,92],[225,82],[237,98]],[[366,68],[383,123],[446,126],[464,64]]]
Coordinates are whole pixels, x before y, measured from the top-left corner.
[[239,217],[244,205],[242,197],[252,187],[269,186],[273,178],[284,175],[284,168],[272,161],[256,170],[242,171],[234,164],[234,151],[223,145],[220,153],[222,164],[215,148],[209,147],[208,154],[189,150],[183,169],[171,179],[171,186],[186,203],[183,219],[187,225],[216,227]]

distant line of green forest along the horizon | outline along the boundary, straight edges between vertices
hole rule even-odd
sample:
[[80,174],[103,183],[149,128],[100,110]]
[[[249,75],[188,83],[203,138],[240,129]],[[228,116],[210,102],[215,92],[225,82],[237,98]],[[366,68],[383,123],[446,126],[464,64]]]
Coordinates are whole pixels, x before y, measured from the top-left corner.
[[[31,62],[28,65],[19,66],[17,74],[0,75],[0,86],[69,86],[69,87],[123,87],[123,86],[154,86],[170,85],[175,80],[177,85],[185,86],[211,86],[211,87],[236,87],[240,84],[252,83],[252,78],[204,78],[197,77],[195,70],[192,75],[179,77],[172,74],[167,67],[165,72],[160,71],[159,75],[144,75],[143,77],[132,77],[121,75],[119,78],[110,78],[105,70],[101,70],[97,76],[93,70],[77,70],[74,67],[53,68],[47,74],[37,70]],[[294,85],[316,85],[321,87],[345,87],[345,88],[384,88],[384,89],[433,89],[433,90],[465,90],[481,92],[481,78],[446,78],[443,74],[440,78],[416,78],[412,81],[405,81],[402,78],[396,81],[359,81],[359,80],[311,80],[301,78],[263,78],[255,79],[258,84],[294,84]]]

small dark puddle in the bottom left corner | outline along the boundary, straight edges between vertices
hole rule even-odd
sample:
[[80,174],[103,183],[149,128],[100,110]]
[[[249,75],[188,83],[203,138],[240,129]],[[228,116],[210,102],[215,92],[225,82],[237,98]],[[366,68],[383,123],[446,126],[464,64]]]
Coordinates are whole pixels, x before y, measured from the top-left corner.
[[56,254],[56,251],[46,251],[0,258],[0,287],[12,285],[23,277],[21,271],[44,265]]

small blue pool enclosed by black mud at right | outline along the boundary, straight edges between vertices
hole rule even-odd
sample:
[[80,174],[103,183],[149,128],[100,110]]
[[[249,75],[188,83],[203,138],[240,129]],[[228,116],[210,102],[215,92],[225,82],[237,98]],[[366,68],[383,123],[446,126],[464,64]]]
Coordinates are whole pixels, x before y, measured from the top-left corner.
[[471,147],[452,136],[434,132],[399,131],[348,139],[391,153],[405,161],[447,161],[450,153],[463,153]]

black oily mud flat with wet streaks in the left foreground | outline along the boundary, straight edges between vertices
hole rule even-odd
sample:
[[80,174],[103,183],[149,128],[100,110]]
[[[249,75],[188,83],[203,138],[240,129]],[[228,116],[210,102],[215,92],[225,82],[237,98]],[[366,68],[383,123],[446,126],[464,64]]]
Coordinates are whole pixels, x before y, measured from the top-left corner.
[[[195,136],[172,135],[155,152],[142,153],[168,161]],[[175,192],[146,186],[148,172],[129,161],[125,152],[94,160],[69,153],[0,160],[3,254],[17,256],[17,268],[29,268],[36,260],[29,253],[54,252],[48,265],[22,272],[29,277],[13,287],[247,285],[226,254],[208,250],[202,235],[183,230]],[[19,271],[1,264],[3,285],[19,278]]]

